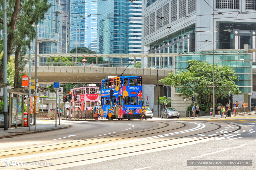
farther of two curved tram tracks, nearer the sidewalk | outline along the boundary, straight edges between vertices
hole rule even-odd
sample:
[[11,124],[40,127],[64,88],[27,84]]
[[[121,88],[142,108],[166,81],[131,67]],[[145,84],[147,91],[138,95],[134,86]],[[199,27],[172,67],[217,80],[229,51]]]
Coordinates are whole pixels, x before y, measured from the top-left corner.
[[[111,136],[106,136],[106,137],[101,137],[101,138],[93,138],[93,139],[87,139],[87,140],[73,141],[73,142],[69,142],[69,144],[70,144],[70,143],[77,143],[77,142],[85,142],[85,141],[90,141],[90,140],[96,140],[96,139],[105,139],[105,138],[116,137],[116,136],[124,136],[124,135],[136,134],[136,133],[144,133],[144,132],[148,132],[148,131],[152,131],[152,130],[162,129],[162,128],[165,128],[165,127],[168,127],[168,126],[169,126],[168,123],[157,122],[157,121],[154,121],[154,122],[156,122],[156,123],[163,123],[163,124],[166,124],[166,125],[163,126],[163,127],[160,127],[160,128],[150,129],[150,130],[143,130],[143,131],[140,131],[140,132],[124,133],[124,134],[111,135]],[[181,123],[181,122],[176,122],[176,123]],[[104,141],[99,141],[99,142],[85,143],[85,144],[80,144],[80,145],[76,145],[76,146],[84,146],[84,145],[90,145],[90,144],[95,144],[95,143],[111,142],[111,141],[115,141],[115,140],[122,140],[122,139],[128,139],[128,138],[134,138],[134,137],[145,136],[145,135],[152,135],[152,134],[157,134],[157,133],[162,133],[162,132],[168,132],[168,131],[170,131],[170,130],[176,130],[176,129],[183,128],[183,127],[186,126],[185,123],[181,123],[181,124],[183,124],[183,126],[178,127],[178,128],[174,128],[174,129],[163,130],[163,131],[160,131],[160,132],[154,132],[154,133],[150,133],[150,134],[142,134],[142,135],[131,136],[131,137],[125,137],[125,138],[119,138],[119,139],[104,140]],[[58,144],[47,145],[47,146],[39,146],[39,147],[33,147],[33,148],[22,148],[22,149],[15,149],[15,150],[7,150],[7,151],[2,151],[2,152],[0,152],[0,153],[11,152],[11,151],[20,151],[20,150],[29,150],[29,149],[42,148],[42,147],[51,147],[51,146],[65,145],[65,144],[67,144],[67,143],[58,143]],[[65,146],[65,148],[70,148],[70,147],[74,147],[74,146]],[[52,148],[52,149],[36,150],[36,151],[29,151],[29,152],[20,152],[20,153],[13,153],[13,154],[7,154],[7,155],[0,155],[0,157],[1,157],[1,156],[10,156],[10,155],[24,154],[24,153],[39,152],[39,151],[48,151],[48,150],[61,149],[61,148],[63,148],[63,147]]]

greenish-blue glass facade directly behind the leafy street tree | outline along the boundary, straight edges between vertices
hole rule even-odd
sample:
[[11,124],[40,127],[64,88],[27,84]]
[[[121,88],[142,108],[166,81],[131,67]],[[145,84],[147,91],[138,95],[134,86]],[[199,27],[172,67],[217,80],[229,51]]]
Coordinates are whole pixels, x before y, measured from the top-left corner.
[[[239,52],[239,54],[237,54]],[[175,74],[178,71],[186,71],[188,60],[205,61],[212,64],[212,51],[189,52],[175,56]],[[239,86],[242,93],[252,93],[252,54],[247,51],[215,51],[214,64],[227,65],[236,71],[239,79],[235,84]],[[175,88],[177,93],[179,87]]]

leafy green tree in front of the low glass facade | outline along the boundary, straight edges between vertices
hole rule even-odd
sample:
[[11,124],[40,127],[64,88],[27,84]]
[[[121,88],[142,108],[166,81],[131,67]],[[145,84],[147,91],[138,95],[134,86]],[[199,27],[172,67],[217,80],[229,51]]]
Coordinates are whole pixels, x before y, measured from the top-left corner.
[[[180,87],[178,92],[189,98],[195,92],[197,102],[210,106],[212,103],[212,64],[196,60],[187,61],[186,71],[178,71],[178,74],[169,73],[167,77],[160,80],[166,85]],[[242,94],[239,87],[235,85],[236,71],[230,66],[214,66],[215,73],[215,103],[219,98],[232,94]]]

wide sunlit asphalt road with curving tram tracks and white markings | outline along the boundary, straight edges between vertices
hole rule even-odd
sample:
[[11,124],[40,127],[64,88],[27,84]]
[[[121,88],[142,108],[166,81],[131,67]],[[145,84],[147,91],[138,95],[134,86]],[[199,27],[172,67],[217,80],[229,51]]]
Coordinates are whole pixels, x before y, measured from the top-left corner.
[[[61,121],[70,128],[0,139],[0,168],[255,169],[255,118]],[[188,160],[252,160],[252,166],[188,166]]]

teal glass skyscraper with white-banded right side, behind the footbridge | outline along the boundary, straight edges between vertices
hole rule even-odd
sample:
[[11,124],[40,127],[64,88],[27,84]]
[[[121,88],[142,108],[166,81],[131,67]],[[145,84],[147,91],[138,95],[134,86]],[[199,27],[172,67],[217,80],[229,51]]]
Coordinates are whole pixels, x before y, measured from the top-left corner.
[[98,2],[98,53],[141,53],[141,1]]

